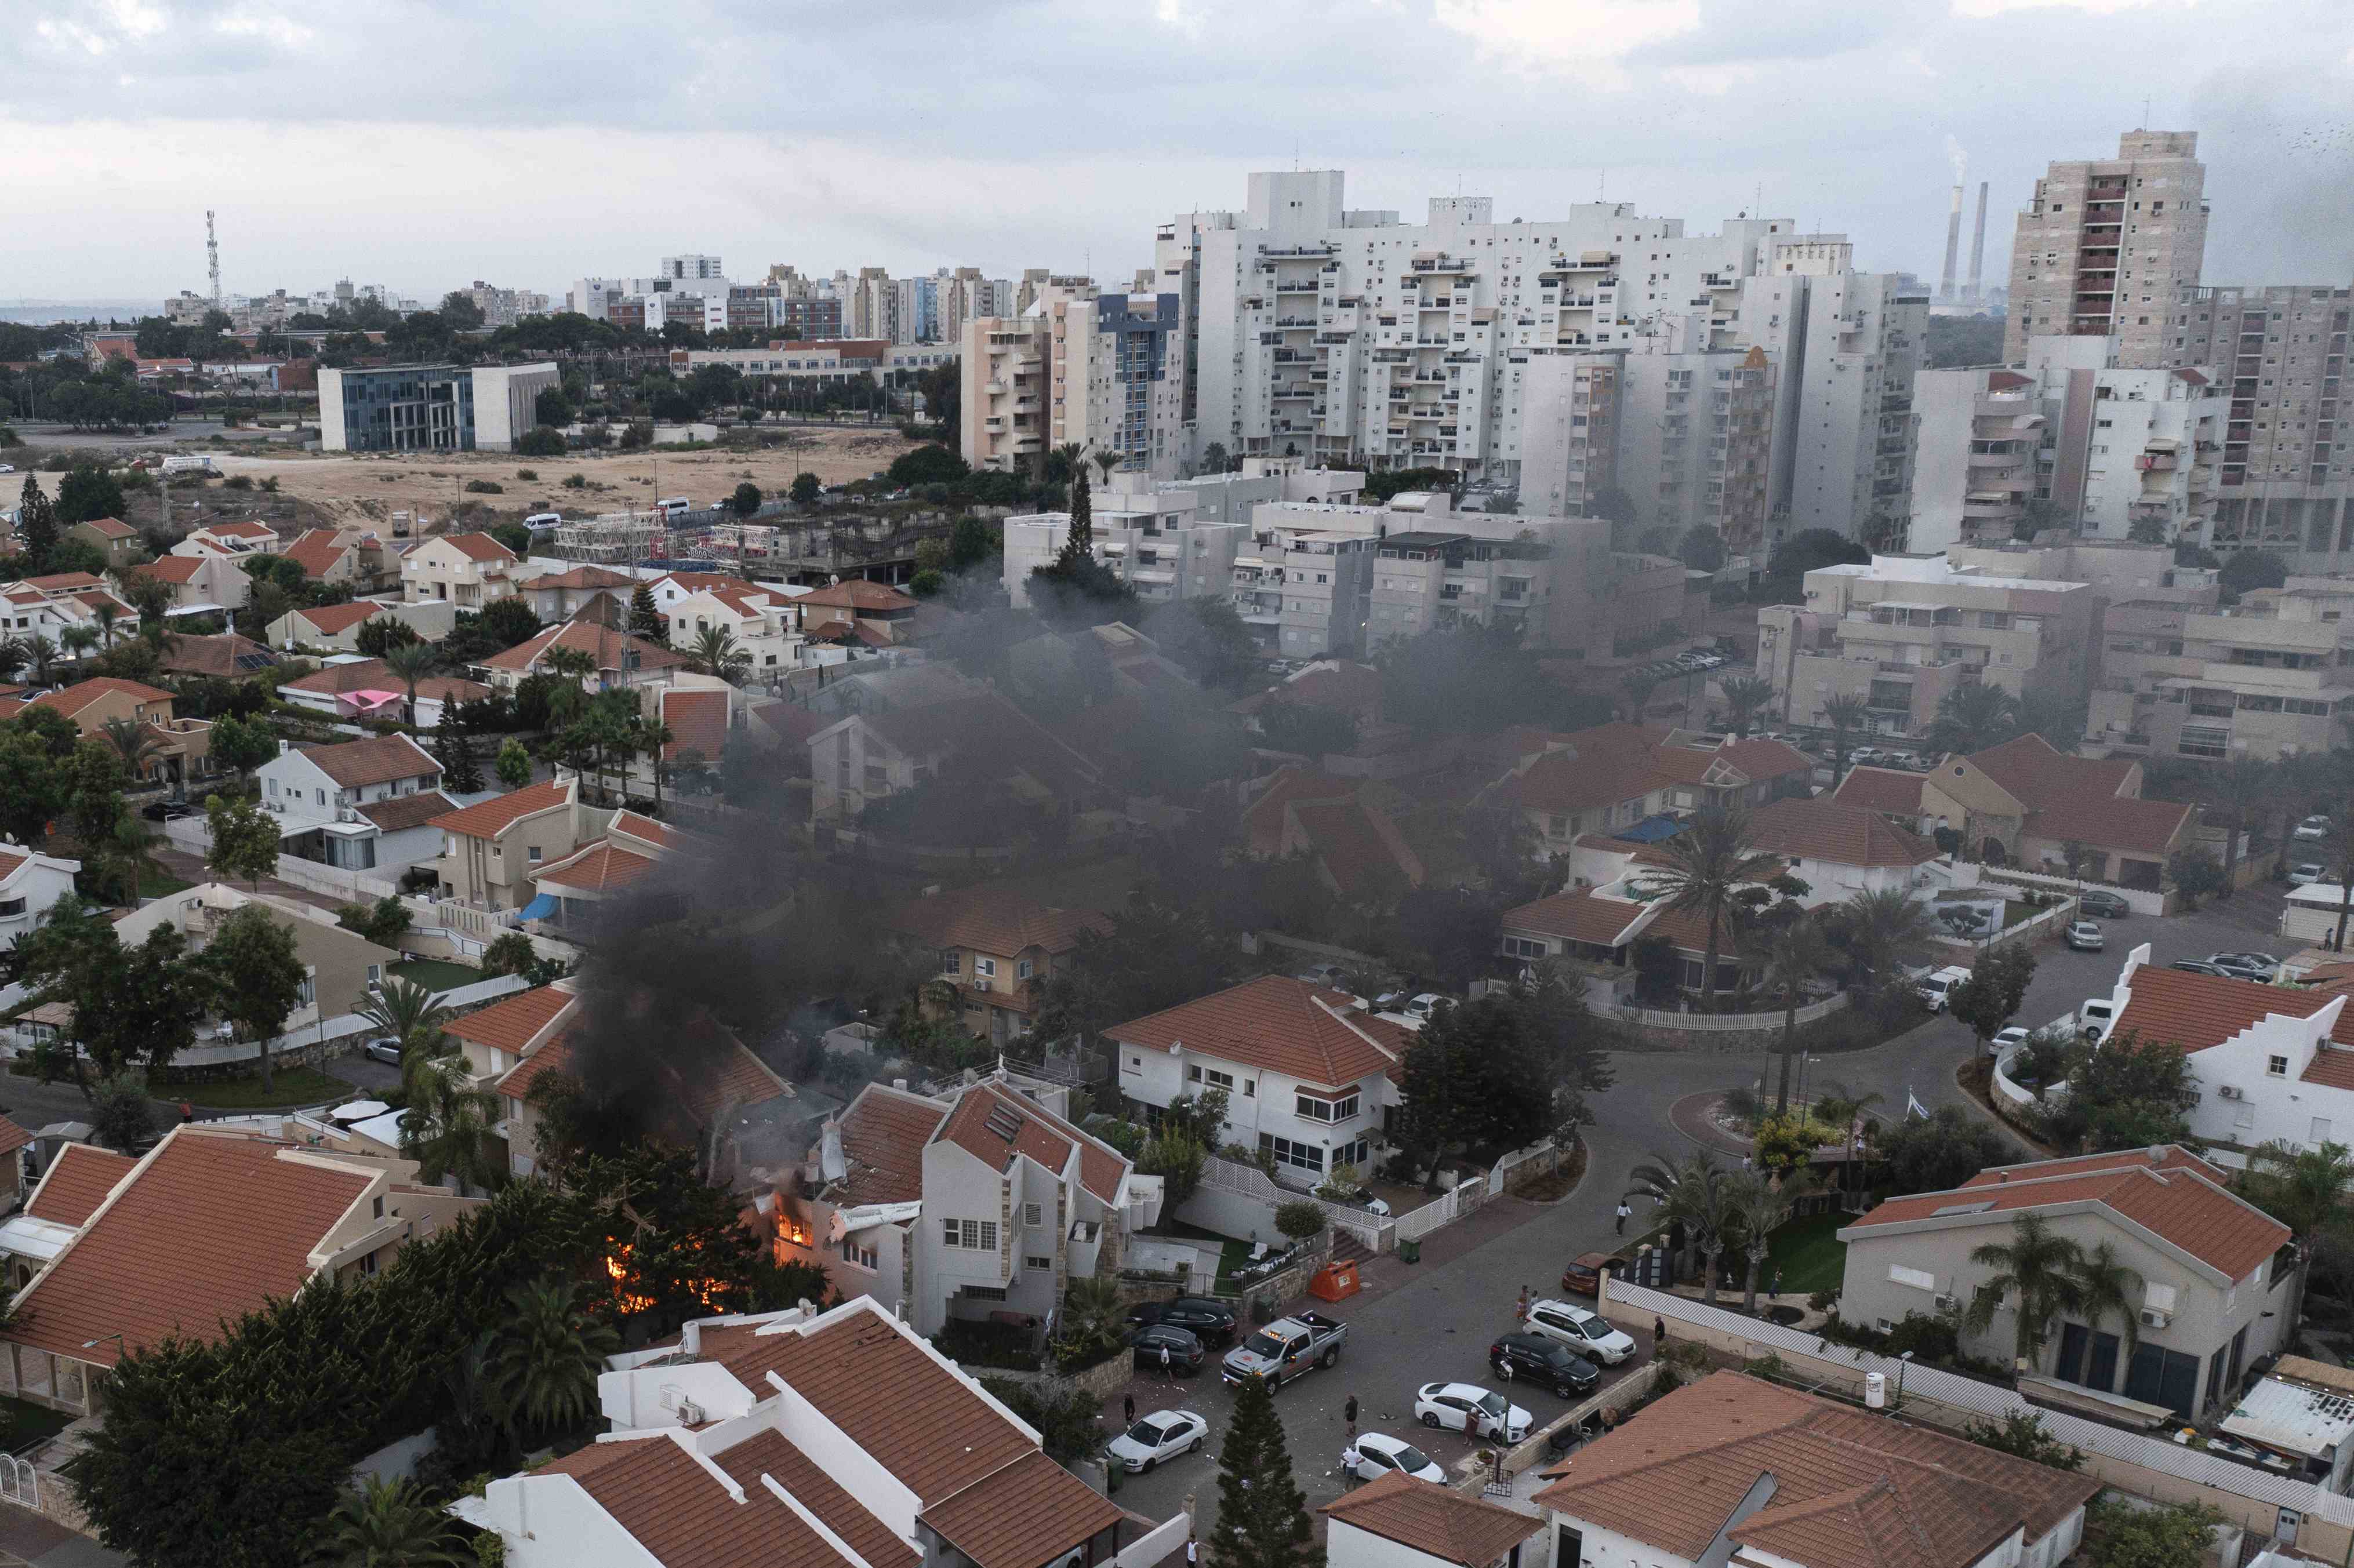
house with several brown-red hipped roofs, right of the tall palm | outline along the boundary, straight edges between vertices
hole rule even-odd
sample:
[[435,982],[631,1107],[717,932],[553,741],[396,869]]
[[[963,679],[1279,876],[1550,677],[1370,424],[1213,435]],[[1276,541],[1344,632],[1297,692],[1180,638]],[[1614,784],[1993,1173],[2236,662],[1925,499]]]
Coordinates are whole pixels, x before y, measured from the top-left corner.
[[[2135,758],[2067,756],[2041,735],[1949,756],[1923,775],[1857,772],[1869,777],[1843,779],[1841,800],[1919,822],[1926,833],[1951,829],[1961,833],[1961,859],[2067,876],[2074,848],[2074,876],[2144,892],[2166,885],[2166,859],[2192,843],[2199,822],[2196,805],[2142,800]],[[1904,779],[1919,784],[1919,805]]]

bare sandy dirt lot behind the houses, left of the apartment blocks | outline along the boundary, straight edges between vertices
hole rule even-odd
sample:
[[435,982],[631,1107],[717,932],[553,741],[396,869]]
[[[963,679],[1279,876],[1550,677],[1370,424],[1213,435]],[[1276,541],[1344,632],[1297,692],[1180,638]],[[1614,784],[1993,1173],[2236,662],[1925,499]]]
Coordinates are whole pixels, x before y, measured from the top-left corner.
[[[673,494],[683,494],[697,506],[711,506],[744,480],[758,485],[763,494],[782,494],[800,471],[814,473],[826,485],[866,478],[916,445],[897,431],[793,428],[791,436],[800,438],[803,445],[749,452],[718,447],[706,452],[631,452],[629,457],[459,452],[419,459],[217,452],[212,461],[224,476],[250,473],[254,480],[275,476],[282,497],[308,501],[327,518],[381,520],[393,511],[421,511],[428,520],[443,520],[464,501],[480,501],[490,511],[511,516],[621,511]],[[40,445],[40,436],[33,431],[26,431],[26,440]],[[518,469],[530,469],[539,478],[518,480]],[[588,485],[565,490],[563,480],[570,473],[586,476]],[[56,494],[61,476],[45,473],[40,478]],[[466,494],[466,480],[492,480],[504,490],[501,494]],[[21,480],[9,478],[7,485],[14,494]]]

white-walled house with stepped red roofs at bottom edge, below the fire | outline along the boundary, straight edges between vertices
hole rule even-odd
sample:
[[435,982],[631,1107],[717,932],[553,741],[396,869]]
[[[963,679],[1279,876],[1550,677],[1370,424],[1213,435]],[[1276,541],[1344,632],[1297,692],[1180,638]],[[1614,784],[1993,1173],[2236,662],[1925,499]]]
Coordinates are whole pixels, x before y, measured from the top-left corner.
[[605,1441],[459,1511],[511,1568],[1149,1568],[1184,1544],[871,1300],[687,1323],[598,1377]]

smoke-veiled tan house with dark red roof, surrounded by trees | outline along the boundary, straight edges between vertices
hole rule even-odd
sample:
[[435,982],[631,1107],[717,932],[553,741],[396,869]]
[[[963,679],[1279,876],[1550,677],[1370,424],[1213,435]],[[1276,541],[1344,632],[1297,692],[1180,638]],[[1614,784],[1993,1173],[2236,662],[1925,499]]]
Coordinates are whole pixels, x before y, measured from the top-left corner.
[[1109,932],[1111,921],[984,885],[899,904],[885,928],[906,946],[937,951],[965,1034],[1003,1045],[1029,1034],[1048,979],[1078,951],[1080,935]]

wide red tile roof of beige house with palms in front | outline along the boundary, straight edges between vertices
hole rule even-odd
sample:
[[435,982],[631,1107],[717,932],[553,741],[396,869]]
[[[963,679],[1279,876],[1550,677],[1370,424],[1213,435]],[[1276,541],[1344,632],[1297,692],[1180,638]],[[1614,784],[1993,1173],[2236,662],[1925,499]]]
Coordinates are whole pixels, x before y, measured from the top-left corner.
[[[2057,1163],[2079,1165],[2081,1161]],[[1947,1215],[1947,1220],[1970,1227],[2008,1227],[2010,1217],[2022,1212],[2093,1205],[2159,1236],[2225,1278],[2246,1278],[2260,1262],[2288,1245],[2288,1227],[2234,1198],[2201,1170],[2206,1168],[2159,1170],[2142,1161],[2039,1177],[2034,1165],[2013,1165],[2003,1172],[2008,1180],[1996,1177],[1954,1191],[1890,1198],[1841,1234],[1869,1236],[1890,1224],[1937,1220],[1937,1210],[1951,1210],[1956,1203],[1970,1205],[1970,1212]]]

